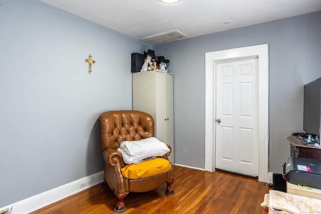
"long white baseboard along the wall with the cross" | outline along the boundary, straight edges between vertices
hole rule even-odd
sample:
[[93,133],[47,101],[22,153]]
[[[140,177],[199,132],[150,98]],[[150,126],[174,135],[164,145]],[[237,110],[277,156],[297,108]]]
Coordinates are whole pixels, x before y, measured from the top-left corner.
[[[58,186],[57,188],[50,189],[48,191],[10,204],[8,206],[0,208],[0,210],[9,208],[9,210],[12,211],[11,214],[30,213],[49,204],[57,202],[58,200],[66,198],[70,195],[83,191],[89,187],[97,185],[101,183],[103,180],[104,171],[100,171],[87,177],[83,177],[73,182],[67,183],[65,185]],[[80,188],[80,185],[84,183],[85,186]]]

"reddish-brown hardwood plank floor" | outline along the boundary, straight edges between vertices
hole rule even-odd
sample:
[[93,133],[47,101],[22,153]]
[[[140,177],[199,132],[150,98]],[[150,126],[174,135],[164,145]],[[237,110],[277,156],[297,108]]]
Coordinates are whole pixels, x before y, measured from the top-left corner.
[[[166,184],[144,193],[129,192],[122,213],[262,213],[264,194],[271,189],[257,179],[215,171],[175,166],[175,194],[166,195]],[[116,197],[99,185],[41,208],[45,213],[115,213]]]

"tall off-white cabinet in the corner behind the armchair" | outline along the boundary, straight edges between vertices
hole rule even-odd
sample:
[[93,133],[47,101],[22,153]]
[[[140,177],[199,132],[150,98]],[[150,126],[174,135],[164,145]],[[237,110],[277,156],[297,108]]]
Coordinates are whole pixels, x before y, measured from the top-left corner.
[[149,113],[155,121],[155,137],[172,147],[174,164],[173,75],[156,71],[132,74],[132,108]]

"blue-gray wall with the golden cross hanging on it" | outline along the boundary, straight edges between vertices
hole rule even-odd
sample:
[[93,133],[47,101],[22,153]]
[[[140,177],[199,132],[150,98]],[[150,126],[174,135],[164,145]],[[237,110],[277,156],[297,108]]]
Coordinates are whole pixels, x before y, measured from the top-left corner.
[[0,38],[3,207],[103,170],[98,115],[132,108],[151,45],[35,0],[0,0]]

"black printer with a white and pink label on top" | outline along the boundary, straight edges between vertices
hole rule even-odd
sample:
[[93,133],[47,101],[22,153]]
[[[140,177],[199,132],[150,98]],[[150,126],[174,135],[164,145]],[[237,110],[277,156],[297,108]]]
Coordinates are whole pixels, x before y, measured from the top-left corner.
[[282,176],[289,183],[321,189],[321,160],[290,157],[283,164]]

